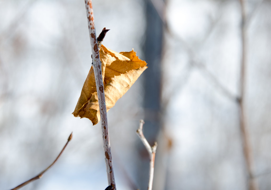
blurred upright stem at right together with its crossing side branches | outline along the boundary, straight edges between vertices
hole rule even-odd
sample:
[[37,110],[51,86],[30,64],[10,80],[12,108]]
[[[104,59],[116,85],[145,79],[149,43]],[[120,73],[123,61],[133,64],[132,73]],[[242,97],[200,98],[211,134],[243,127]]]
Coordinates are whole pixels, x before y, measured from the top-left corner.
[[[241,60],[241,94],[240,97],[237,94],[231,93],[230,90],[228,90],[222,83],[220,83],[220,81],[218,80],[218,78],[212,74],[212,72],[210,72],[207,67],[205,67],[204,63],[201,63],[201,61],[199,61],[197,59],[196,53],[194,52],[198,52],[197,50],[204,44],[204,42],[206,41],[206,39],[209,37],[209,35],[212,33],[212,30],[214,30],[214,28],[217,27],[217,23],[220,20],[220,17],[217,17],[217,19],[212,22],[211,27],[209,27],[209,32],[207,32],[206,37],[203,38],[202,42],[199,43],[198,47],[196,48],[196,50],[193,50],[191,47],[189,47],[189,45],[185,42],[185,40],[183,40],[180,36],[178,35],[174,35],[173,32],[170,30],[169,28],[169,24],[167,23],[167,18],[166,18],[166,5],[163,1],[161,0],[151,0],[153,6],[155,7],[156,11],[158,12],[160,19],[163,22],[163,28],[165,31],[167,31],[168,34],[170,34],[170,36],[176,40],[182,43],[182,45],[184,45],[184,47],[187,50],[187,53],[189,54],[189,57],[191,58],[191,65],[197,67],[201,73],[204,75],[204,77],[206,77],[207,79],[209,79],[209,81],[214,85],[214,87],[216,87],[219,91],[221,91],[221,93],[225,96],[227,96],[230,100],[236,102],[238,104],[238,106],[240,107],[240,129],[242,132],[242,139],[243,139],[243,150],[244,150],[244,157],[246,160],[246,166],[247,166],[247,171],[249,173],[249,186],[250,189],[258,189],[258,185],[257,185],[257,180],[253,177],[253,168],[254,168],[254,163],[253,163],[253,156],[252,156],[252,148],[250,145],[250,140],[249,140],[249,135],[247,132],[247,127],[246,127],[246,122],[245,122],[245,115],[244,115],[244,105],[243,105],[243,97],[244,97],[244,86],[245,86],[245,65],[246,65],[246,28],[249,26],[251,19],[253,18],[254,14],[256,13],[256,11],[258,10],[258,8],[260,7],[260,5],[263,3],[263,1],[259,1],[256,3],[256,6],[254,6],[252,8],[252,11],[250,12],[249,17],[246,18],[246,14],[244,11],[244,2],[242,0],[240,0],[241,2],[241,12],[242,12],[242,24],[241,24],[241,38],[242,38],[242,60]],[[218,7],[221,7],[222,4],[224,2],[220,1],[220,5],[218,5]],[[189,75],[188,75],[189,76]],[[181,85],[182,86],[182,85]],[[164,104],[164,108],[166,107],[166,105],[169,104],[169,100],[170,97],[173,97],[174,94],[178,93],[179,90],[174,90],[173,93],[168,93],[169,96],[167,96],[167,101],[164,100],[165,104]],[[163,104],[162,104],[163,105]],[[163,109],[162,109],[163,110]]]

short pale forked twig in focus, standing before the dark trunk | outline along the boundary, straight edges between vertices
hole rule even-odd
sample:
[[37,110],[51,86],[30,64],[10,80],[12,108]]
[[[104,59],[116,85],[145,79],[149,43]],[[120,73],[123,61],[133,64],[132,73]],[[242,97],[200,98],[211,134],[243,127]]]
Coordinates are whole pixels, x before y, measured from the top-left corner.
[[147,151],[149,152],[149,156],[150,156],[150,176],[149,176],[149,185],[148,185],[148,190],[152,189],[152,185],[153,185],[153,173],[154,173],[154,159],[155,159],[155,153],[156,153],[156,148],[157,148],[157,142],[154,142],[153,146],[150,146],[150,144],[148,143],[147,139],[145,138],[144,134],[143,134],[143,124],[144,121],[141,119],[139,121],[139,127],[137,129],[137,135],[139,136],[139,138],[141,139],[141,141],[143,142],[144,146],[146,147]]

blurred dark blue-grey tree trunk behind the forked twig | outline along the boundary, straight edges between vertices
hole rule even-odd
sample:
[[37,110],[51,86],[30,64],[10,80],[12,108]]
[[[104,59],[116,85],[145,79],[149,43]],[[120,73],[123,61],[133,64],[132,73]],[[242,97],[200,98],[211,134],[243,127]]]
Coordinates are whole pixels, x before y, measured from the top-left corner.
[[[161,128],[160,120],[160,92],[161,92],[161,53],[163,42],[163,24],[156,9],[150,1],[146,1],[146,33],[144,43],[145,61],[148,68],[144,76],[144,127],[143,132],[152,146],[157,140]],[[140,189],[147,189],[149,180],[149,155],[146,148],[137,145],[140,152],[140,160],[137,171],[137,181]],[[155,171],[154,171],[155,175]]]

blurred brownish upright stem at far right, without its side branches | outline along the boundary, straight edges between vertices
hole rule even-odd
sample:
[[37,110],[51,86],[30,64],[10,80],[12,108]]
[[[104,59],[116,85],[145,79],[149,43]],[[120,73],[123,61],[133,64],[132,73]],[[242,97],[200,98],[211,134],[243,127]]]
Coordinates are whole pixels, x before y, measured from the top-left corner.
[[249,132],[247,129],[246,124],[246,115],[244,112],[244,92],[245,92],[245,84],[246,84],[246,12],[245,12],[245,5],[244,0],[240,0],[241,5],[241,16],[242,16],[242,25],[241,25],[241,78],[240,78],[240,99],[238,101],[239,103],[239,109],[240,109],[240,130],[241,130],[241,136],[243,141],[243,151],[244,151],[244,157],[246,160],[246,169],[247,173],[249,175],[249,190],[258,190],[258,183],[256,178],[253,178],[254,173],[254,161],[253,161],[253,155],[252,155],[252,148],[250,143],[250,137]]

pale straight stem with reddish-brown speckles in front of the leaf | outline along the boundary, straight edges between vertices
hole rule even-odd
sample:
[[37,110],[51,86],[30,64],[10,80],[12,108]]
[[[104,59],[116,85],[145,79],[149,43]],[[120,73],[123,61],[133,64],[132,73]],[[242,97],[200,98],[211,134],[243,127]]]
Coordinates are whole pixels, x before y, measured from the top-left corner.
[[103,137],[103,142],[104,142],[107,180],[108,180],[108,185],[112,185],[115,189],[116,186],[115,186],[115,178],[114,178],[114,172],[113,172],[113,163],[112,163],[112,156],[111,156],[108,124],[107,124],[104,83],[102,79],[101,61],[100,61],[100,55],[99,55],[99,49],[98,49],[98,42],[96,40],[96,30],[95,30],[95,24],[94,24],[92,2],[91,0],[88,0],[88,1],[85,0],[85,4],[86,4],[86,14],[88,18],[89,37],[90,37],[90,42],[91,42],[91,47],[92,47],[93,71],[95,75],[95,82],[96,82],[100,115],[101,115],[101,127],[102,127],[102,137]]

